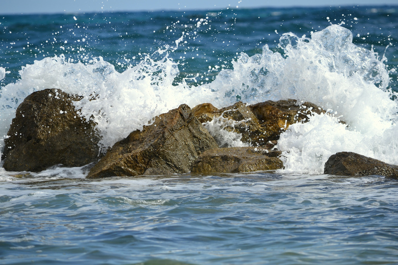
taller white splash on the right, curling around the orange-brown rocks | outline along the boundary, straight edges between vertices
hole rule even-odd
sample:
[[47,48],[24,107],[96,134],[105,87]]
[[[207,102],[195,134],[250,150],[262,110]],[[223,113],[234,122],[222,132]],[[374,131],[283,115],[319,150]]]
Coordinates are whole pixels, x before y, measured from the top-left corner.
[[346,122],[315,115],[309,123],[291,126],[277,146],[283,151],[285,172],[321,174],[329,156],[338,151],[397,164],[393,154],[398,149],[398,109],[391,100],[395,93],[388,89],[385,58],[352,41],[352,33],[339,25],[311,38],[286,33],[280,38],[282,54],[267,45],[262,55],[242,53],[233,70],[222,70],[208,86],[218,88],[217,101],[292,98],[315,103]]

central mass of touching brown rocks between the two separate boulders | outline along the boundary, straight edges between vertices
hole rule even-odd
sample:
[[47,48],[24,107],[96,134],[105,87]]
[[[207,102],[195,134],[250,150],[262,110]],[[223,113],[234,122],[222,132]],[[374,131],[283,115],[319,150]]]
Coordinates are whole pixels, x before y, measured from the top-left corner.
[[[278,114],[273,119],[279,123],[269,129],[263,125],[265,122],[259,121],[252,108],[263,121]],[[290,124],[304,121],[309,115],[306,106],[296,105],[293,100],[267,101],[264,105],[254,106],[237,102],[223,109],[205,103],[191,110],[183,104],[117,142],[90,170],[87,178],[280,169],[283,167],[278,158],[280,152],[269,150],[275,144],[270,141],[277,140]],[[262,148],[219,146],[202,125],[218,117],[227,120],[223,129],[241,134],[243,142]]]

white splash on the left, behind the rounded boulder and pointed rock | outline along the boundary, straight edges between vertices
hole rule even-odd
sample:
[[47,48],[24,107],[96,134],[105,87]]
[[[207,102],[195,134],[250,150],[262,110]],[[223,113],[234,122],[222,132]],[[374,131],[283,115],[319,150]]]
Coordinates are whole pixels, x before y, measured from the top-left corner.
[[179,74],[177,63],[168,55],[158,61],[146,57],[124,72],[101,57],[89,63],[67,61],[63,55],[35,61],[19,72],[20,80],[2,89],[0,117],[1,135],[6,135],[15,109],[24,97],[45,88],[57,88],[84,98],[74,102],[86,119],[97,123],[101,131],[101,146],[105,150],[127,137],[131,131],[142,129],[156,115],[178,107],[206,100],[206,93],[192,96],[185,82],[173,86]]

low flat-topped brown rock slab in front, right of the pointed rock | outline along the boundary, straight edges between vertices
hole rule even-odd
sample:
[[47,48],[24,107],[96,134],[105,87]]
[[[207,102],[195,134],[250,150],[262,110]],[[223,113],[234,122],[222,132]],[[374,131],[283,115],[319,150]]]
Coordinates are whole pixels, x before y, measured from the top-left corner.
[[261,147],[216,148],[203,152],[192,166],[192,173],[239,173],[283,168],[280,151]]

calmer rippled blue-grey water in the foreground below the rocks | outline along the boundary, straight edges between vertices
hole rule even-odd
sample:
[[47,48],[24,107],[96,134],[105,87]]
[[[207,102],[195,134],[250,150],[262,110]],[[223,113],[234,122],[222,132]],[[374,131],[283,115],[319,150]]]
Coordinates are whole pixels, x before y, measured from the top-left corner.
[[398,261],[398,184],[380,176],[25,177],[2,192],[2,263]]

